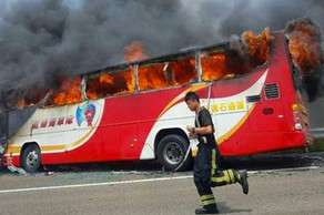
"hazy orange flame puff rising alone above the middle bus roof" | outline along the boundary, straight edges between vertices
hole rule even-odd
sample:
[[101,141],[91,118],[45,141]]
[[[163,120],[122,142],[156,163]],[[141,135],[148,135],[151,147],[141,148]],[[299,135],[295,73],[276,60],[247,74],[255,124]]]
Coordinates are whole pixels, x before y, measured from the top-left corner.
[[143,44],[140,41],[133,41],[124,48],[124,59],[126,62],[141,61],[148,59],[144,53]]

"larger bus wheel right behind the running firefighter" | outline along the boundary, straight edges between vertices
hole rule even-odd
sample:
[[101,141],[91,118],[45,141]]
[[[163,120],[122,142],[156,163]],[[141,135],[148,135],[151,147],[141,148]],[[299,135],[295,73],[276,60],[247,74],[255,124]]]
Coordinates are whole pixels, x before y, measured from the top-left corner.
[[185,171],[192,165],[192,156],[189,154],[185,161],[185,154],[189,149],[189,142],[181,135],[170,134],[164,136],[156,151],[158,161],[166,171]]

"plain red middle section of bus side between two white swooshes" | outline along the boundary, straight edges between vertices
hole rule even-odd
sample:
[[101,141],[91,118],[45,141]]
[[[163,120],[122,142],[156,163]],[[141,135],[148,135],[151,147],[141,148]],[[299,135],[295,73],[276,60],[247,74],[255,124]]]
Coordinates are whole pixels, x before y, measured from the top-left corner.
[[87,143],[65,153],[44,154],[44,163],[139,160],[159,115],[182,91],[172,89],[107,99],[100,125]]

